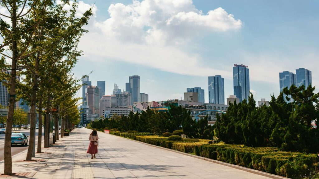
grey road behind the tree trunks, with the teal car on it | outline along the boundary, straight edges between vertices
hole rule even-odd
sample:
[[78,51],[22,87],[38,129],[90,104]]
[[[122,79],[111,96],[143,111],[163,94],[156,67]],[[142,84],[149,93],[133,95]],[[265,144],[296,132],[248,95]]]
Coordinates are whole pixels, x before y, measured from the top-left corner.
[[[42,131],[44,131],[44,128],[42,128]],[[24,134],[26,134],[26,136],[29,136],[30,135],[30,130],[21,130],[21,131],[14,131],[14,132],[22,132]],[[38,129],[35,131],[35,145],[38,144]],[[54,133],[54,131],[53,131]],[[29,139],[30,137],[28,137]],[[44,139],[44,132],[42,132],[42,141]],[[24,150],[27,150],[29,147],[29,141],[28,141],[28,145],[27,146],[24,146],[22,147],[21,145],[13,145],[11,147],[11,155],[15,155],[15,154],[18,154]],[[36,148],[35,148],[36,150]],[[4,134],[0,134],[0,161],[4,160]]]

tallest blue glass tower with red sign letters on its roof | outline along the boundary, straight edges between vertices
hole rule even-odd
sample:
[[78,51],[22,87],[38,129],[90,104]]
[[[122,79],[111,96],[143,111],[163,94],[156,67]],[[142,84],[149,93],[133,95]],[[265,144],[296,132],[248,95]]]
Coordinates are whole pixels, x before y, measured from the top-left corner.
[[[246,65],[234,64],[234,95],[239,98],[239,102],[249,97],[249,69]],[[247,101],[248,102],[248,101]]]

